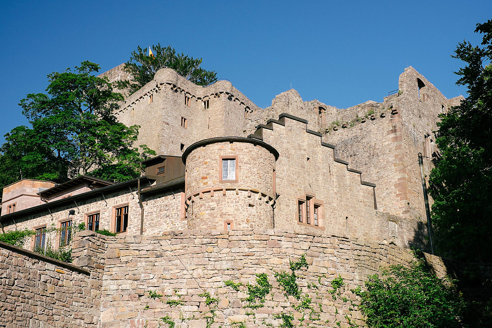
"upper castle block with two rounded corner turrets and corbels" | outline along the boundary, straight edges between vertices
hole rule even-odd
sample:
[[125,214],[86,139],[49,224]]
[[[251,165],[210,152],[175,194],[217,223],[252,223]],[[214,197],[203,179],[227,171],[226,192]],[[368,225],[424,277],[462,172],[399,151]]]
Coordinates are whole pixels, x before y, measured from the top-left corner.
[[181,156],[199,140],[240,135],[246,113],[257,109],[229,81],[197,86],[165,68],[130,95],[115,114],[126,125],[141,126],[137,144],[146,144],[160,154]]

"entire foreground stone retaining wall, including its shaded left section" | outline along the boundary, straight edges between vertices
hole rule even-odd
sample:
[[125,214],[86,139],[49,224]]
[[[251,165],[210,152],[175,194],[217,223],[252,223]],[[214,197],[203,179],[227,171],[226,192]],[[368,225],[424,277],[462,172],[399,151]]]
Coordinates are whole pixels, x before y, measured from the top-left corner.
[[[448,273],[449,263],[424,255],[438,276]],[[276,272],[290,274],[289,262],[302,256],[297,299],[285,295]],[[83,231],[74,236],[72,259],[69,265],[0,243],[0,326],[157,328],[167,327],[166,318],[179,328],[266,328],[280,327],[282,314],[297,327],[344,327],[348,319],[363,325],[350,289],[381,267],[408,266],[412,256],[394,244],[257,229],[117,237]],[[492,277],[490,265],[476,268]],[[247,285],[257,285],[259,274],[272,289],[253,300],[261,306],[249,307]],[[335,279],[343,285],[334,293]]]

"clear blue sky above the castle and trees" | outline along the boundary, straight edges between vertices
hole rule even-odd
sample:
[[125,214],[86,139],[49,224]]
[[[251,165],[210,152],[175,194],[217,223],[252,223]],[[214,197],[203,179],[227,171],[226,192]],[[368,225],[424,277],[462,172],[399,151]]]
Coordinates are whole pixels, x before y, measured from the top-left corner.
[[101,71],[137,45],[202,57],[258,106],[292,88],[346,108],[382,101],[413,66],[448,98],[466,95],[450,57],[492,1],[1,1],[0,143],[28,124],[17,105],[46,75],[91,60]]

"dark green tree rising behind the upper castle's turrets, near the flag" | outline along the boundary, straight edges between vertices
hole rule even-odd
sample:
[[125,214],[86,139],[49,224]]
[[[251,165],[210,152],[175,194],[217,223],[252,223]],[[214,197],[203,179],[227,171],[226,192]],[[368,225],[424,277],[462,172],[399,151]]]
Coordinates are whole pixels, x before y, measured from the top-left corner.
[[124,70],[130,74],[130,80],[118,81],[116,86],[132,94],[151,82],[159,69],[166,67],[174,69],[179,75],[199,86],[208,86],[217,81],[215,71],[207,71],[200,67],[201,58],[178,54],[170,45],[161,47],[160,43],[152,46],[152,53],[152,56],[148,56],[147,49],[138,46],[124,66]]

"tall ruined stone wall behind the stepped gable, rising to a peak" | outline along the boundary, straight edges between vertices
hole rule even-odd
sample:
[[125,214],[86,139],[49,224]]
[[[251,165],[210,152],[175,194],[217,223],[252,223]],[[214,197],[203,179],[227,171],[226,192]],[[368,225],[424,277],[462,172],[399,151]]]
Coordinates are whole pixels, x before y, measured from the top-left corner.
[[399,92],[385,97],[383,103],[367,102],[327,117],[332,124],[323,140],[336,146],[336,156],[362,170],[363,179],[377,184],[379,210],[410,220],[414,227],[423,226],[426,215],[418,153],[428,157],[424,158],[428,177],[436,151],[433,132],[438,115],[460,99],[446,99],[408,67],[400,75]]

